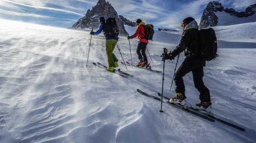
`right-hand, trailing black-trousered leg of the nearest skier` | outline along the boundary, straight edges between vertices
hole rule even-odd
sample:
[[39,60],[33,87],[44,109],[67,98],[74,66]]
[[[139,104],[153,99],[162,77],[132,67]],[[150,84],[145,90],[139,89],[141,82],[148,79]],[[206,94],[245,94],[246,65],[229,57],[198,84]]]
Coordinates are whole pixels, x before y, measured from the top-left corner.
[[198,67],[192,70],[194,87],[200,92],[199,98],[203,102],[210,102],[210,91],[204,85],[203,77],[204,77],[204,67]]

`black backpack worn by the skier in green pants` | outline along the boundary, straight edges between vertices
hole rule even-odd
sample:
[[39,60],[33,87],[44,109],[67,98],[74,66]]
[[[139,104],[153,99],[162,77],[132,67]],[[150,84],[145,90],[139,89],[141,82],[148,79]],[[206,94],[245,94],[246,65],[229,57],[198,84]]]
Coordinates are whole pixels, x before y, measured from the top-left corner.
[[119,35],[119,30],[115,18],[108,18],[106,20],[107,36],[116,37]]

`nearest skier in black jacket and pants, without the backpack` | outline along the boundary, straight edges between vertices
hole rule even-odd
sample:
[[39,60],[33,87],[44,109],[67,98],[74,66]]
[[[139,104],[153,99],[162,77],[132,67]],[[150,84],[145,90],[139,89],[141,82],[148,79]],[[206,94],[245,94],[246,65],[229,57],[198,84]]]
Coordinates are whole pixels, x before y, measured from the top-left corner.
[[196,104],[195,107],[200,110],[210,111],[210,106],[212,104],[210,99],[210,92],[209,89],[205,87],[203,81],[203,67],[205,66],[206,61],[199,56],[200,37],[198,24],[194,20],[194,18],[188,17],[183,20],[181,26],[184,31],[181,35],[179,45],[169,54],[162,56],[162,60],[174,60],[174,58],[182,51],[184,51],[184,54],[186,56],[179,69],[177,69],[177,71],[175,72],[174,81],[176,85],[176,97],[171,98],[170,101],[184,104],[186,96],[183,77],[192,71],[194,86],[200,92],[199,98],[201,100],[201,102]]

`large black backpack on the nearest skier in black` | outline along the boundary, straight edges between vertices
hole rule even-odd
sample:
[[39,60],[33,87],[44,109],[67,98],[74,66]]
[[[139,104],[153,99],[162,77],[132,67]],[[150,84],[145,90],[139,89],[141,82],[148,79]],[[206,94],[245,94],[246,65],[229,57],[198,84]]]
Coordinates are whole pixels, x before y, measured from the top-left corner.
[[217,54],[217,37],[213,28],[201,29],[200,34],[200,56],[207,61],[215,60],[218,57]]

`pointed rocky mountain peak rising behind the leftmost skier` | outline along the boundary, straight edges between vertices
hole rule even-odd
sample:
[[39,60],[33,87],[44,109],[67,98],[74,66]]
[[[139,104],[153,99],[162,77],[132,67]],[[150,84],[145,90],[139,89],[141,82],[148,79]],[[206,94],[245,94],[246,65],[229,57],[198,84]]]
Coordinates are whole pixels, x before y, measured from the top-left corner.
[[128,32],[124,28],[124,22],[121,18],[119,18],[118,13],[114,9],[114,7],[106,0],[99,0],[97,5],[92,7],[92,9],[88,9],[85,16],[80,18],[71,28],[72,29],[84,29],[84,28],[99,28],[99,18],[104,16],[107,18],[115,18],[118,27],[119,27],[119,35],[127,36]]

